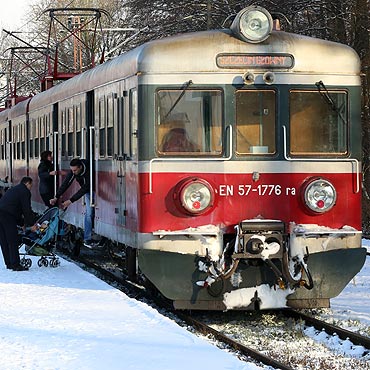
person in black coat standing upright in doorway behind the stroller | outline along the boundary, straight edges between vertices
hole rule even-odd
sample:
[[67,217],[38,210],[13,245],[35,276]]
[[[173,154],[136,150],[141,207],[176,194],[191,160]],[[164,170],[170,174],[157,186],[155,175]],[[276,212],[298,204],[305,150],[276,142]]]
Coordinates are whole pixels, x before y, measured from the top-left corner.
[[54,178],[58,171],[54,171],[53,153],[50,150],[45,150],[41,153],[41,161],[38,167],[39,173],[39,193],[46,205],[52,207],[50,199],[54,198]]

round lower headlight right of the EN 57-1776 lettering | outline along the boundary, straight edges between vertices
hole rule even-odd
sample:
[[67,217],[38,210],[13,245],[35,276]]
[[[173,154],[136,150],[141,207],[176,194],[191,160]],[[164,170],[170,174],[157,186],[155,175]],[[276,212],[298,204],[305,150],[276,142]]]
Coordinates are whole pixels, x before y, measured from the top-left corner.
[[316,179],[306,186],[304,201],[311,211],[317,213],[329,211],[335,205],[336,200],[337,192],[327,180]]

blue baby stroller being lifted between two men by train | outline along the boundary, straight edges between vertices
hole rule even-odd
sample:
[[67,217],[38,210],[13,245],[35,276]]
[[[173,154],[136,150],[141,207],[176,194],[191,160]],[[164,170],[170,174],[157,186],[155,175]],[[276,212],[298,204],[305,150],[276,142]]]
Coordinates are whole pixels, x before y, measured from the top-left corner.
[[20,250],[24,247],[25,251],[19,253],[22,266],[31,267],[32,260],[26,258],[27,256],[40,256],[37,261],[39,267],[58,267],[60,265],[59,258],[52,252],[55,247],[56,236],[63,232],[59,216],[58,207],[49,208],[37,220],[37,231],[31,232],[28,230],[23,233],[22,243],[19,246]]

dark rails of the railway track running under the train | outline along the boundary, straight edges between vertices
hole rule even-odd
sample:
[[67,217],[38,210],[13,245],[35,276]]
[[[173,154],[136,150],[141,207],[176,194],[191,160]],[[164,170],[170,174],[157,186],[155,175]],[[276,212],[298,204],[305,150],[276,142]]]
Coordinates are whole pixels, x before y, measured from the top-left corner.
[[[124,272],[121,268],[118,268],[114,264],[111,267],[102,266],[94,261],[94,256],[79,256],[70,257],[74,261],[92,269],[95,274],[99,277],[114,285],[118,289],[122,290],[125,294],[133,297],[135,299],[145,300],[149,304],[154,304],[162,311],[164,310],[165,315],[171,316],[172,319],[181,324],[181,322],[186,323],[186,325],[194,328],[195,331],[201,333],[202,335],[207,335],[213,337],[218,343],[226,345],[228,348],[236,351],[239,357],[244,358],[246,361],[255,361],[257,363],[262,363],[266,366],[271,366],[276,369],[288,370],[296,367],[292,367],[289,363],[284,363],[280,359],[276,359],[273,356],[268,356],[265,354],[266,351],[262,353],[259,350],[252,348],[243,344],[241,341],[231,338],[230,336],[224,334],[221,330],[216,330],[212,328],[209,324],[204,321],[199,320],[194,317],[194,315],[189,315],[184,312],[174,311],[166,300],[158,296],[153,296],[148,293],[148,290],[141,284],[136,284],[125,279]],[[109,258],[107,259],[109,260]],[[113,267],[112,267],[113,266]],[[114,267],[115,266],[115,267]],[[356,345],[361,345],[367,348],[370,352],[370,338],[361,336],[357,333],[350,332],[348,330],[342,329],[340,327],[328,324],[319,319],[313,318],[309,315],[305,315],[301,312],[287,309],[281,311],[285,317],[304,321],[307,326],[313,326],[317,330],[325,330],[329,335],[338,335],[343,340],[349,339],[352,343]]]

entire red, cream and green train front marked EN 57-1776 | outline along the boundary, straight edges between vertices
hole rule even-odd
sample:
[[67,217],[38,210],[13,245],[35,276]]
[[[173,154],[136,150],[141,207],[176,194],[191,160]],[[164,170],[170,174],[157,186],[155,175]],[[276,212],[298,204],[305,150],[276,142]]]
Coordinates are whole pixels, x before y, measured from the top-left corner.
[[143,57],[138,265],[178,309],[328,307],[365,261],[358,56],[272,26]]

